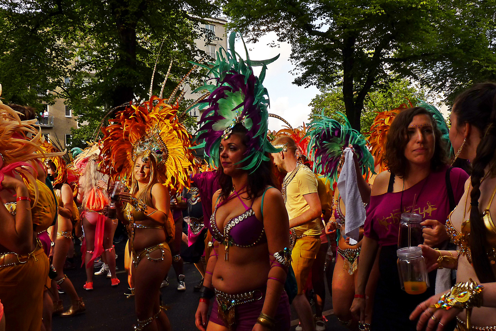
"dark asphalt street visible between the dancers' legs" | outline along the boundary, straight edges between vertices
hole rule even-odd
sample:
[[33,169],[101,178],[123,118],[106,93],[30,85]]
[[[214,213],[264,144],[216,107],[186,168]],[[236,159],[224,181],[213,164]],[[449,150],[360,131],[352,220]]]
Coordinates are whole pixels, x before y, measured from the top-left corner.
[[[78,247],[76,246],[76,249]],[[127,291],[127,276],[124,271],[124,242],[116,244],[116,252],[118,254],[117,276],[121,283],[117,287],[110,286],[110,278],[106,276],[94,276],[93,290],[86,291],[83,289],[83,284],[86,281],[84,270],[80,268],[80,259],[75,270],[66,270],[65,274],[70,278],[77,293],[81,296],[86,304],[86,312],[74,317],[62,318],[54,316],[53,331],[89,331],[89,330],[133,330],[132,326],[136,323],[134,314],[134,300],[127,299],[124,292]],[[193,292],[193,287],[200,281],[201,275],[196,270],[193,264],[184,265],[186,275],[186,291],[177,290],[176,274],[171,268],[169,272],[170,285],[162,289],[162,300],[165,305],[169,306],[167,316],[171,321],[174,331],[196,331],[194,325],[194,313],[198,304],[198,292]],[[98,271],[98,269],[95,269]],[[326,285],[327,286],[327,285]],[[327,287],[326,287],[327,288]],[[324,311],[332,312],[331,298],[328,296],[325,300]],[[64,310],[70,305],[70,300],[66,294],[61,294]],[[295,330],[295,321],[298,317],[292,310],[292,320],[294,326],[291,330]],[[326,323],[327,331],[346,331],[348,329],[342,327],[334,315],[327,316]]]

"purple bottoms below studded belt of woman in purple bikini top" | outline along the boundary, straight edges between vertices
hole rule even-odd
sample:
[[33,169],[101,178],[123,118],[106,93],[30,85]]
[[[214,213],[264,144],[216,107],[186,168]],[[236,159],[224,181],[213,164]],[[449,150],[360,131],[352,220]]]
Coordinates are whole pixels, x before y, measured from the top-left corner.
[[[235,309],[236,331],[251,331],[256,324],[256,319],[262,312],[263,302],[265,299],[265,290],[260,300],[251,301],[237,305]],[[289,306],[288,294],[283,290],[279,305],[277,306],[274,319],[277,321],[274,331],[288,331],[291,326],[291,309]],[[219,317],[219,304],[217,299],[214,301],[209,321],[225,327],[224,321]]]

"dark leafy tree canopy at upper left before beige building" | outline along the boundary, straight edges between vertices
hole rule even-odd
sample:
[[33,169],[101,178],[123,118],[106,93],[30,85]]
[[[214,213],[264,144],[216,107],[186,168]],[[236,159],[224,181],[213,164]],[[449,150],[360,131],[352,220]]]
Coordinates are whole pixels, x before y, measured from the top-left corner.
[[[33,106],[63,98],[84,121],[74,134],[88,139],[109,109],[148,95],[159,52],[154,94],[174,59],[167,96],[187,61],[205,55],[194,40],[210,37],[198,23],[216,12],[203,0],[8,0],[0,5],[2,97]],[[36,87],[52,93],[39,99]]]

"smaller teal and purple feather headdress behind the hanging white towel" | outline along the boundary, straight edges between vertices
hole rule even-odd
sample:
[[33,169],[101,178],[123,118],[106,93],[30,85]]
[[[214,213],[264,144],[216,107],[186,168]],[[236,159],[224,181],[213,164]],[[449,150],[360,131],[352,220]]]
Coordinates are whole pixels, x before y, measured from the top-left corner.
[[322,115],[322,119],[314,120],[308,126],[309,133],[306,137],[310,137],[310,142],[307,155],[313,160],[313,171],[336,181],[343,151],[351,144],[358,155],[362,174],[368,177],[371,171],[374,172],[367,141],[357,130],[351,128],[345,115],[337,113],[343,117],[345,124]]

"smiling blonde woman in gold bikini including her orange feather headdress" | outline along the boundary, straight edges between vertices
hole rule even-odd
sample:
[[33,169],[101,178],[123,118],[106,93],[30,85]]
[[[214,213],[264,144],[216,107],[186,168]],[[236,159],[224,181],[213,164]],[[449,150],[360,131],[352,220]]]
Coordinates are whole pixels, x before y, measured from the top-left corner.
[[169,189],[179,191],[187,184],[192,156],[188,133],[176,116],[179,100],[172,103],[175,106],[167,101],[153,96],[130,105],[111,120],[113,125],[103,128],[100,157],[105,172],[130,184],[129,192],[120,193],[124,210],[118,208],[117,215],[130,232],[136,330],[171,330],[160,305],[175,231],[169,222]]

